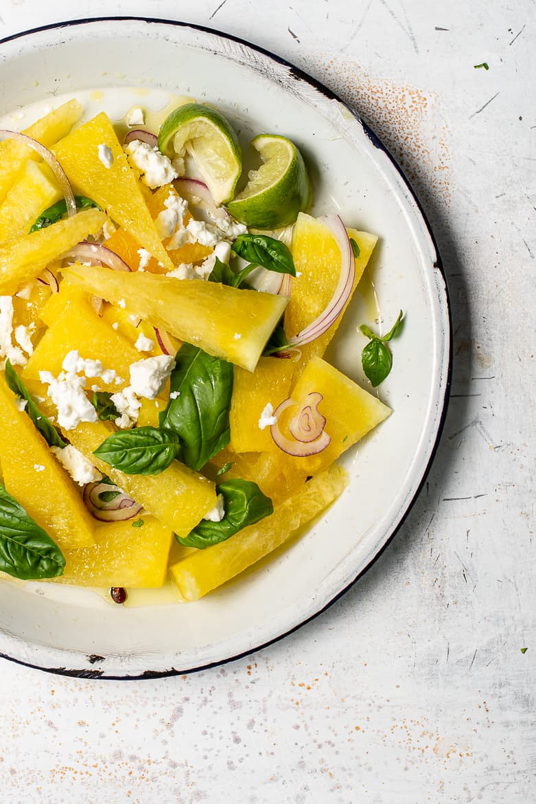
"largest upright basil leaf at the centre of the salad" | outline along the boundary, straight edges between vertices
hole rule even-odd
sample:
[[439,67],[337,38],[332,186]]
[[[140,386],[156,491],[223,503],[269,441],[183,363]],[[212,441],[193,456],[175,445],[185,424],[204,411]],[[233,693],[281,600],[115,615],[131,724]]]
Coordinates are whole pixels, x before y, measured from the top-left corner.
[[160,413],[160,427],[178,433],[182,461],[198,472],[229,444],[233,366],[185,343],[177,352],[170,379],[169,403]]

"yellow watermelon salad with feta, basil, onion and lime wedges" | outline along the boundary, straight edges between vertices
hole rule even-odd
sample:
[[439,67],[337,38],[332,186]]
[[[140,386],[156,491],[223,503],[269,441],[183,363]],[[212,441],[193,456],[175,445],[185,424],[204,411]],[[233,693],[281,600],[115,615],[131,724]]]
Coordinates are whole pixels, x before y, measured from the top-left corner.
[[[323,359],[377,237],[211,105],[0,131],[0,572],[195,601],[297,535],[391,410]],[[126,136],[123,135],[127,129]],[[367,326],[372,386],[391,369]]]

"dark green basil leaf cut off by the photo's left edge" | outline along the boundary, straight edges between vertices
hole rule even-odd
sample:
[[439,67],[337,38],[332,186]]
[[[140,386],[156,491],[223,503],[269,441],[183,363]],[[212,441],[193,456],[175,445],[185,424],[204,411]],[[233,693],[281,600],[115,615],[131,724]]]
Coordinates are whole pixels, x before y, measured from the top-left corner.
[[62,575],[64,566],[58,545],[0,483],[0,570],[39,580]]

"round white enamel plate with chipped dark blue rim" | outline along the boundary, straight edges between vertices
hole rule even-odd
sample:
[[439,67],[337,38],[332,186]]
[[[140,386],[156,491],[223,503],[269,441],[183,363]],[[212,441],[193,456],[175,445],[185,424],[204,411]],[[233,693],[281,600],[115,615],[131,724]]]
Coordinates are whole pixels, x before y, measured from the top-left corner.
[[[122,607],[82,589],[0,580],[0,654],[70,675],[154,677],[250,653],[322,611],[371,564],[420,489],[445,416],[450,330],[445,278],[422,213],[392,158],[327,89],[273,55],[180,23],[67,23],[0,47],[0,125],[24,128],[77,97],[88,118],[158,111],[170,95],[217,105],[244,144],[281,133],[311,167],[313,214],[338,212],[380,236],[372,280],[386,326],[400,308],[392,374],[380,398],[393,415],[348,450],[343,496],[284,551],[196,603]],[[21,109],[22,107],[22,109]],[[26,109],[26,107],[29,107]],[[328,358],[364,382],[357,327],[374,324],[371,277]]]

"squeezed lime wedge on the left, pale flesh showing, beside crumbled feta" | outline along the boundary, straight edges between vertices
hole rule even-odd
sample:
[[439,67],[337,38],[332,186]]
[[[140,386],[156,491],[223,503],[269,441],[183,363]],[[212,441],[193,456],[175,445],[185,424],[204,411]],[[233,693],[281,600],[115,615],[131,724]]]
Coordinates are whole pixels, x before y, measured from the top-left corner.
[[216,109],[198,103],[179,106],[160,125],[158,148],[170,158],[190,154],[216,204],[233,198],[242,151],[236,133]]

